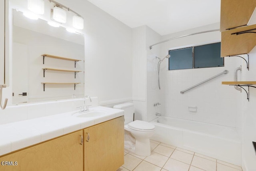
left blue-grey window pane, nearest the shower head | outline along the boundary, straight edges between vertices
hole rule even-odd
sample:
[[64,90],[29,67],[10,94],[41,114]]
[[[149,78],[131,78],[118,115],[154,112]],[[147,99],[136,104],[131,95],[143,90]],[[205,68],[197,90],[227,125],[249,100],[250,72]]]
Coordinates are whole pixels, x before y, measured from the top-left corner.
[[169,70],[193,68],[192,48],[170,50],[169,54]]

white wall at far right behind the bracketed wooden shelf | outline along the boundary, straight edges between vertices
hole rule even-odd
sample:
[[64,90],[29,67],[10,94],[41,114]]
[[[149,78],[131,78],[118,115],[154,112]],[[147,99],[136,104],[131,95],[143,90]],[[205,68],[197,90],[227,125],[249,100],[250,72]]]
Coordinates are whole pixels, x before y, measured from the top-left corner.
[[[242,72],[243,81],[255,81],[256,78],[256,47],[249,53],[250,70],[244,69]],[[247,87],[244,87],[248,90]],[[256,151],[252,145],[252,141],[256,142],[256,88],[250,87],[250,101],[246,99],[246,93],[242,92],[243,115],[242,123],[242,166],[245,171],[256,170]]]

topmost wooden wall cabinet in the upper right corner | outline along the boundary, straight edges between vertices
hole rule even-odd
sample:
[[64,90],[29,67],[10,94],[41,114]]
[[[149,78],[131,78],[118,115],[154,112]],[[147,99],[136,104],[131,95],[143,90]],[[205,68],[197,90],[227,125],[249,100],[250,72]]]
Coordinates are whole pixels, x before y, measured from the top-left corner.
[[256,7],[256,0],[221,0],[220,31],[246,26]]

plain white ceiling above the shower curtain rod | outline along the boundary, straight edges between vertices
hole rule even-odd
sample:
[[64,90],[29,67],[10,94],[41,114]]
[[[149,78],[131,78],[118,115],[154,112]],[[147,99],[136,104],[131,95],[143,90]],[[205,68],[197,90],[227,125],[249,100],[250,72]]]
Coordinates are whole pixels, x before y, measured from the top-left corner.
[[160,35],[220,22],[220,0],[88,0],[127,26]]

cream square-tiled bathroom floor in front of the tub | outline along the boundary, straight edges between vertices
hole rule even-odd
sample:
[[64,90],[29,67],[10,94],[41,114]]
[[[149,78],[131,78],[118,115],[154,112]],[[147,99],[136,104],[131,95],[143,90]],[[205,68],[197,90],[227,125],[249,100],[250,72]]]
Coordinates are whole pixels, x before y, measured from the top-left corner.
[[150,140],[151,155],[125,151],[124,165],[117,171],[242,171],[240,166]]

